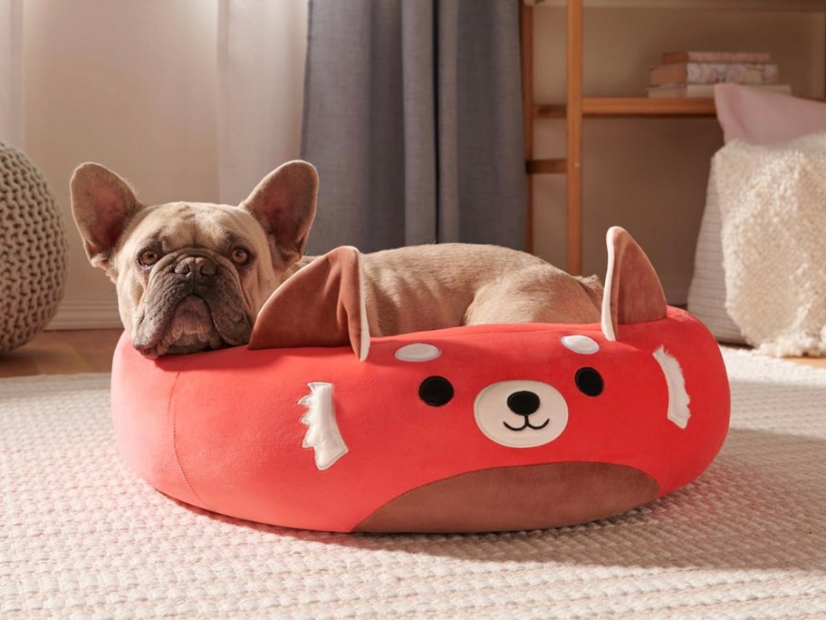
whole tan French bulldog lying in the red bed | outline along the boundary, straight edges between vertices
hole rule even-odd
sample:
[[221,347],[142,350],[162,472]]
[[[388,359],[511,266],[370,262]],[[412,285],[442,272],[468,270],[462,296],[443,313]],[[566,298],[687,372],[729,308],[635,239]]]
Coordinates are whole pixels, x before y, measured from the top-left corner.
[[[240,206],[141,205],[97,164],[72,176],[72,212],[92,265],[115,282],[120,317],[150,357],[246,344],[266,299],[312,262],[310,164],[274,170]],[[365,255],[370,334],[484,323],[593,323],[602,288],[516,250],[470,244]]]

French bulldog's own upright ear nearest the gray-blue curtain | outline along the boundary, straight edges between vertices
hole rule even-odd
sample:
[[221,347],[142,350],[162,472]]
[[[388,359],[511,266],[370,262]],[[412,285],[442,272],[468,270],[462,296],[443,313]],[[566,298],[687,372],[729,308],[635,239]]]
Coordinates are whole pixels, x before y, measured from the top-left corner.
[[264,228],[284,266],[293,265],[304,253],[317,195],[315,168],[295,160],[270,172],[241,203]]

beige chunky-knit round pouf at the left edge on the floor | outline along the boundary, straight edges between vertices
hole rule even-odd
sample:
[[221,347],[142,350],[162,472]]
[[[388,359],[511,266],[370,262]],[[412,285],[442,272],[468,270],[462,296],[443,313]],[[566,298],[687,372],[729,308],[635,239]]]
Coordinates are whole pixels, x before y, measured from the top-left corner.
[[0,142],[0,353],[27,343],[57,312],[66,234],[40,170]]

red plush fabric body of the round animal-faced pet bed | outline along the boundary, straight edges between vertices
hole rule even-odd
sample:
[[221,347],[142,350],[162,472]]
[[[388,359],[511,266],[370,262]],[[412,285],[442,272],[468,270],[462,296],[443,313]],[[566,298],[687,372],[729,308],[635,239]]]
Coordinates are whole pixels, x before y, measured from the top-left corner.
[[[599,350],[571,350],[562,344],[571,334],[590,337]],[[397,358],[401,347],[415,343],[435,346],[438,356]],[[685,428],[668,418],[677,388],[655,358],[660,347],[685,378]],[[597,395],[578,387],[583,368],[599,373]],[[449,382],[448,402],[422,399],[428,377]],[[323,468],[317,450],[303,447],[308,408],[299,401],[314,382],[331,385],[332,417],[346,444],[346,453]],[[564,403],[557,409],[567,410],[558,436],[527,447],[490,439],[475,412],[483,392],[500,382],[556,392]],[[618,342],[608,341],[600,325],[478,325],[377,338],[363,362],[347,345],[237,347],[151,361],[124,336],[112,369],[112,415],[123,457],[160,491],[237,518],[346,532],[412,489],[482,470],[607,463],[641,472],[656,483],[655,495],[665,495],[695,480],[716,456],[728,429],[729,389],[713,336],[669,307],[665,318],[623,325]],[[520,489],[512,492],[518,496]],[[562,525],[548,501],[536,502],[548,514],[529,514],[535,492],[524,489],[523,522],[517,514],[516,522],[490,526],[497,522],[474,511],[495,506],[475,502],[471,493],[454,528],[412,522],[398,529]],[[602,512],[585,505],[562,521],[608,516]]]

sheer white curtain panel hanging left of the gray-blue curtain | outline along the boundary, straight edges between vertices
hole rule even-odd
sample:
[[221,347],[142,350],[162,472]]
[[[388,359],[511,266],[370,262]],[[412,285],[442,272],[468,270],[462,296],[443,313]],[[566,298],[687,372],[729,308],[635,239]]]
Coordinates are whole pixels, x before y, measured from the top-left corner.
[[307,0],[220,0],[220,199],[237,204],[301,153]]

